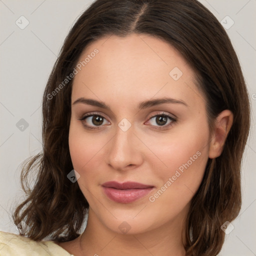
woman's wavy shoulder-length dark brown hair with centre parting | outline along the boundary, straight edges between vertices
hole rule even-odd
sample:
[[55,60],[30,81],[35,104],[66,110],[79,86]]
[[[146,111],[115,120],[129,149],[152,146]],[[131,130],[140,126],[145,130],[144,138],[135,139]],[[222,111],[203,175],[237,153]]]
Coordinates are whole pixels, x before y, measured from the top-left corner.
[[[221,155],[208,159],[203,180],[191,201],[186,221],[187,255],[216,255],[223,244],[221,225],[240,210],[240,167],[250,124],[250,106],[241,68],[231,42],[214,15],[196,0],[96,0],[75,22],[49,76],[42,102],[43,151],[25,162],[22,188],[27,198],[16,208],[17,225],[34,240],[76,238],[88,202],[77,182],[68,148],[72,80],[49,98],[73,71],[85,47],[115,34],[146,33],[174,46],[195,70],[197,86],[206,98],[210,131],[224,109],[234,114]],[[36,182],[29,189],[30,170]]]

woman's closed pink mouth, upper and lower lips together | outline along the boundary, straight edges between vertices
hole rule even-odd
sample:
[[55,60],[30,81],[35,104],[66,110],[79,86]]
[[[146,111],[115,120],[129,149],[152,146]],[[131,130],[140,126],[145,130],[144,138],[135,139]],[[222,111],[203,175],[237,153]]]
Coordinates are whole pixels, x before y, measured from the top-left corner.
[[108,181],[101,186],[109,199],[119,203],[130,203],[138,200],[148,194],[154,187],[132,181],[123,183]]

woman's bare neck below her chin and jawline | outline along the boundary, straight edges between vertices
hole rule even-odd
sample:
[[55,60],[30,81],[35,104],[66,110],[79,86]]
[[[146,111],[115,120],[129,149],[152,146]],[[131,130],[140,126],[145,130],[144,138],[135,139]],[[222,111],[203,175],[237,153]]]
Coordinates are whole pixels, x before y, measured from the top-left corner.
[[104,226],[89,209],[84,232],[79,236],[79,247],[83,255],[161,255],[184,256],[182,244],[183,220],[164,223],[157,229],[138,234],[119,234]]

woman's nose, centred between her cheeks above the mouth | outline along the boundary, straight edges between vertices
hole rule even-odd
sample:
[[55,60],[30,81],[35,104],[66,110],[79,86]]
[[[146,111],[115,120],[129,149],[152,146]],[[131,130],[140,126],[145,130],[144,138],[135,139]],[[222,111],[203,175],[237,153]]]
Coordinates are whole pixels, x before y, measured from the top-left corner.
[[107,164],[116,170],[126,170],[139,166],[143,161],[141,141],[133,133],[132,126],[123,131],[118,126],[109,143]]

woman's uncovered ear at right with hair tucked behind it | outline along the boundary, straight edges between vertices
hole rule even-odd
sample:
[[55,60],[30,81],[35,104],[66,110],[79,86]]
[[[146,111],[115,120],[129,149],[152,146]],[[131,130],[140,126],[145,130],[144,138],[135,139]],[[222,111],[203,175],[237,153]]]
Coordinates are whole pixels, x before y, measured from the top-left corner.
[[228,109],[223,110],[216,117],[209,145],[209,158],[216,158],[221,154],[232,123],[233,113]]

